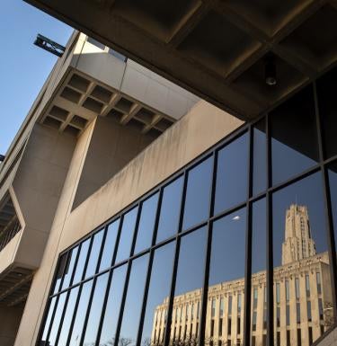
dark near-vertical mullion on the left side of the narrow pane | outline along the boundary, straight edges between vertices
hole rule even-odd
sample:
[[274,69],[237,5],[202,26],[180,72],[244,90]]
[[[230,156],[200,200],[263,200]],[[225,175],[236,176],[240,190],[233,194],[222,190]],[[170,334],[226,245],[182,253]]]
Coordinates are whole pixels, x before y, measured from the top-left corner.
[[246,202],[246,229],[245,229],[245,271],[244,271],[244,346],[250,345],[250,316],[251,316],[251,288],[252,288],[252,206],[249,199],[253,195],[253,126],[249,127],[249,155],[247,173],[247,202]]

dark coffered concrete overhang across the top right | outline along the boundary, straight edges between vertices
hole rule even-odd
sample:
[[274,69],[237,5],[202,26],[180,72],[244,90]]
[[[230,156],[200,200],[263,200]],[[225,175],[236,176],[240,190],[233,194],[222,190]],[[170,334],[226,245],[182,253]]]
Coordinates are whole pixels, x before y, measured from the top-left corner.
[[25,1],[243,120],[337,60],[335,0]]

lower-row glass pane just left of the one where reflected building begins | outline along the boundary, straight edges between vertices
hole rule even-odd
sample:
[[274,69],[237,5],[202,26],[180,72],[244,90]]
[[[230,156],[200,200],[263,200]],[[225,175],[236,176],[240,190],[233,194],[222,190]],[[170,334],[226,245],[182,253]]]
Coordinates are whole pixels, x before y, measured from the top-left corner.
[[143,303],[148,254],[141,256],[132,262],[128,293],[125,300],[123,319],[120,326],[119,345],[135,345]]

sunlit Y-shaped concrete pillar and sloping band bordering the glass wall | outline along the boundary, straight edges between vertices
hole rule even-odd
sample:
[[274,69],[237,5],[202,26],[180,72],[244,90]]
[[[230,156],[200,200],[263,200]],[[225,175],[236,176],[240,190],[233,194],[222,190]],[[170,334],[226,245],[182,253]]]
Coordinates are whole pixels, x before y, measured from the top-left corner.
[[207,102],[198,103],[189,114],[72,211],[85,156],[93,138],[94,122],[85,129],[75,147],[46,251],[31,285],[15,346],[32,346],[36,341],[59,252],[137,200],[241,124],[240,120]]

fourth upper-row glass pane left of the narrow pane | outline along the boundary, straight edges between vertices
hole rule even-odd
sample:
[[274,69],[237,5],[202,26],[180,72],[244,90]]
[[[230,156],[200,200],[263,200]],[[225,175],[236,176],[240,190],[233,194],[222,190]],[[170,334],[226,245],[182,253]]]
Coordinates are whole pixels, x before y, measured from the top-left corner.
[[159,194],[156,193],[154,196],[150,197],[142,203],[137,230],[135,253],[139,253],[151,246],[152,235],[154,234],[155,227],[155,215],[158,204],[158,196]]

